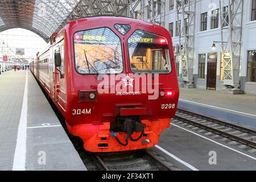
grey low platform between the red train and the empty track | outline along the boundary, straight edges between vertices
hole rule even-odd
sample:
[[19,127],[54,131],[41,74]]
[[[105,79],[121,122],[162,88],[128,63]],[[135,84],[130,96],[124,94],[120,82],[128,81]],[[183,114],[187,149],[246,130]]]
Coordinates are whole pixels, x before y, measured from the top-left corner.
[[[168,129],[163,131],[158,146],[187,163],[187,165],[184,165],[164,152],[161,154],[182,170],[256,170],[254,154],[239,150],[237,147],[230,146],[220,140],[215,140],[202,134],[195,134],[195,132],[191,132],[185,127],[174,124],[171,124]],[[155,147],[154,150],[158,149]],[[209,163],[210,152],[216,153],[216,164]],[[191,166],[190,168],[188,164]]]

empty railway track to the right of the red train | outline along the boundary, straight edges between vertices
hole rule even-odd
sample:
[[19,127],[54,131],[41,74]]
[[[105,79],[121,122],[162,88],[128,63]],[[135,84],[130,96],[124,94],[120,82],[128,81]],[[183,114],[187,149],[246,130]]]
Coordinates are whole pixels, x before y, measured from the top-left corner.
[[256,155],[256,131],[184,109],[177,109],[172,123],[237,146]]

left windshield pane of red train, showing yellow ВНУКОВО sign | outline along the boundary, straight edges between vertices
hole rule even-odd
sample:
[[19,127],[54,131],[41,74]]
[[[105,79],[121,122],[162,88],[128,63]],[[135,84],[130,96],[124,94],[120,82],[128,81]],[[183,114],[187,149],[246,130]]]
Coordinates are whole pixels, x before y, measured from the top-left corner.
[[76,32],[74,35],[76,70],[81,74],[121,73],[121,40],[109,28]]

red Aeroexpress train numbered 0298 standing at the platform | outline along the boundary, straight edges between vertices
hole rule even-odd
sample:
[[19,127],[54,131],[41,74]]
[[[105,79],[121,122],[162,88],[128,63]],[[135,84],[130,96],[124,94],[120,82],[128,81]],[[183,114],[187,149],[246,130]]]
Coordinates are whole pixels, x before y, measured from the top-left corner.
[[172,40],[117,16],[74,20],[51,36],[31,72],[92,152],[155,146],[179,98]]

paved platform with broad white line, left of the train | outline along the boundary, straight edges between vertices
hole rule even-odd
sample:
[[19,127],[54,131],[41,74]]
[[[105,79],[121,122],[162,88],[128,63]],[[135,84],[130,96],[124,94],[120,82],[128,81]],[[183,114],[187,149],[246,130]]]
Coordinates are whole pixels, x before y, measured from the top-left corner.
[[2,170],[86,170],[29,70],[0,75]]

